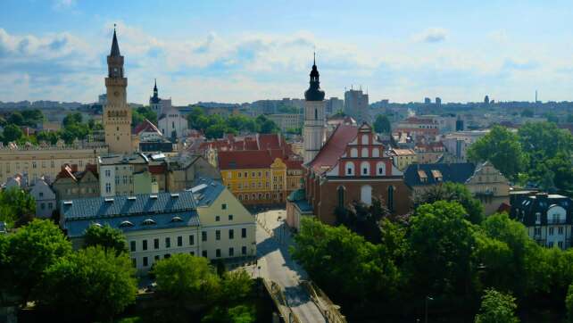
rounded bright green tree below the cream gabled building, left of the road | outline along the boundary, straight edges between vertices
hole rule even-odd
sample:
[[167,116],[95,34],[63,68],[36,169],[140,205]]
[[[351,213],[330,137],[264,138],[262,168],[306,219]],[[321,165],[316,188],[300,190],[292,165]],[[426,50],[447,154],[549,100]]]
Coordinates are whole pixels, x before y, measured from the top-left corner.
[[181,302],[210,302],[217,297],[220,288],[219,277],[209,261],[186,253],[157,261],[154,275],[157,291]]

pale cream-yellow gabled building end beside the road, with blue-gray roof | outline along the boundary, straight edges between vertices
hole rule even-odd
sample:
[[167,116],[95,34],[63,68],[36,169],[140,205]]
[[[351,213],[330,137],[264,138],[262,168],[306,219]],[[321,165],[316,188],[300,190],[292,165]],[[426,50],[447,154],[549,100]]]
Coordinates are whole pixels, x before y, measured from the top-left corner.
[[256,222],[237,197],[212,178],[191,189],[201,222],[201,255],[209,259],[254,257]]

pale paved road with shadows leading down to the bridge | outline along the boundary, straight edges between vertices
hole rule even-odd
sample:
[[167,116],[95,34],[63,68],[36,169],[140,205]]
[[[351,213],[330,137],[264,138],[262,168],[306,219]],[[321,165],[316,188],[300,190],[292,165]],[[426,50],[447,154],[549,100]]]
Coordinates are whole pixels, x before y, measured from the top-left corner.
[[300,284],[301,280],[306,279],[306,272],[288,253],[288,245],[292,240],[286,225],[280,220],[285,219],[285,216],[284,210],[257,214],[257,258],[261,267],[259,275],[283,288],[289,307],[301,322],[326,322]]

